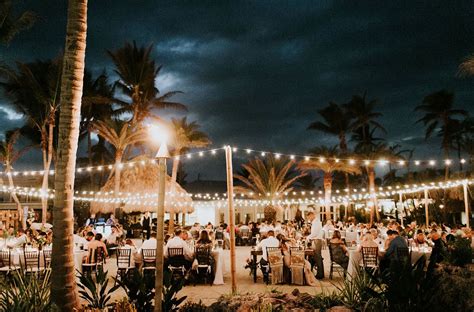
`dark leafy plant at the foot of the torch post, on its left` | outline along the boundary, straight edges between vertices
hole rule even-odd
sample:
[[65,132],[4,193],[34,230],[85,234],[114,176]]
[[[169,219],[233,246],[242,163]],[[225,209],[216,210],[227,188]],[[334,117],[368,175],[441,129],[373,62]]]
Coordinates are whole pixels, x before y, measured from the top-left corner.
[[140,270],[135,269],[127,278],[117,280],[128,295],[128,299],[133,303],[138,311],[153,311],[153,298],[155,278],[153,274],[143,274]]

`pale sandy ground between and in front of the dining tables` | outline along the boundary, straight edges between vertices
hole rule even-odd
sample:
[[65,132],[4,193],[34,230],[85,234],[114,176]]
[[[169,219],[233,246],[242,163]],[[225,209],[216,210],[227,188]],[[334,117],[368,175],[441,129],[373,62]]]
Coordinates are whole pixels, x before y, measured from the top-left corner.
[[[141,245],[141,241],[137,241],[137,246]],[[335,290],[335,283],[342,280],[342,277],[337,273],[334,274],[333,279],[329,279],[329,252],[323,250],[323,258],[325,259],[325,274],[326,277],[320,281],[320,285],[313,286],[298,286],[298,285],[266,285],[263,283],[262,274],[259,270],[257,283],[253,282],[249,270],[245,269],[245,260],[250,257],[250,247],[236,247],[236,276],[237,276],[237,291],[238,293],[262,293],[272,290],[278,290],[284,293],[293,291],[298,288],[300,292],[309,294],[317,294],[321,292],[332,292]],[[230,251],[224,250],[224,285],[188,285],[185,286],[179,293],[179,296],[187,296],[187,300],[199,302],[200,300],[205,304],[211,304],[217,300],[221,295],[231,293],[231,277],[230,277]],[[117,262],[115,256],[112,256],[105,266],[109,271],[109,276],[115,276],[117,272]],[[122,289],[114,293],[113,299],[121,299],[125,296]]]

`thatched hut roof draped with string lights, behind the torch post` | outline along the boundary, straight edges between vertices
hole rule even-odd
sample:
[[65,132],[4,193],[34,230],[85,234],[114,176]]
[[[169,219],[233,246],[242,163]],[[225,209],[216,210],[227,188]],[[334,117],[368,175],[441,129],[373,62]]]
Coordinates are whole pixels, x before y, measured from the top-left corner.
[[[143,156],[133,160],[134,166],[121,170],[120,193],[115,194],[115,179],[112,175],[107,183],[95,194],[91,202],[91,213],[113,213],[120,206],[125,213],[154,212],[157,207],[158,165]],[[192,198],[178,183],[166,176],[165,212],[192,213]]]

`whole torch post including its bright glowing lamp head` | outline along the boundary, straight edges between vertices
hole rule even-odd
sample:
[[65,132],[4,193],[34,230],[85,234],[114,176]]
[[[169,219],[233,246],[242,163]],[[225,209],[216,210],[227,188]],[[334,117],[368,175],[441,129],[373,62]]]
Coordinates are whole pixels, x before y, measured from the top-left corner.
[[165,129],[150,127],[150,134],[158,138],[160,143],[160,148],[156,153],[156,158],[158,158],[158,205],[156,209],[155,312],[162,312],[166,158],[169,158],[169,153]]

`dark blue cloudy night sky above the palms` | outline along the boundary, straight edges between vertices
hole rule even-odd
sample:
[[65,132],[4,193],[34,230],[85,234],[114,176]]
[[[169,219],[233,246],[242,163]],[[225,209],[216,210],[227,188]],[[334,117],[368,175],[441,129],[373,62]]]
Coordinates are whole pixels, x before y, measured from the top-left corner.
[[[41,20],[2,47],[1,57],[57,56],[65,2],[22,2]],[[416,147],[420,158],[441,156],[438,143],[425,142],[414,125],[413,108],[446,88],[455,92],[456,106],[474,113],[474,78],[456,76],[474,53],[472,1],[90,1],[90,70],[112,75],[105,50],[132,40],[153,44],[163,65],[158,88],[184,92],[177,99],[215,146],[304,154],[335,144],[306,127],[329,101],[344,103],[367,91],[379,100],[388,142]],[[1,129],[20,124],[21,116],[0,101]],[[194,161],[188,168],[219,178],[223,168],[215,165]]]

